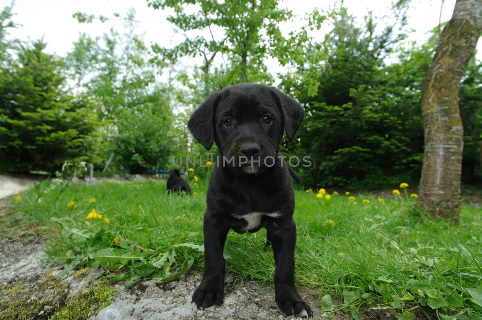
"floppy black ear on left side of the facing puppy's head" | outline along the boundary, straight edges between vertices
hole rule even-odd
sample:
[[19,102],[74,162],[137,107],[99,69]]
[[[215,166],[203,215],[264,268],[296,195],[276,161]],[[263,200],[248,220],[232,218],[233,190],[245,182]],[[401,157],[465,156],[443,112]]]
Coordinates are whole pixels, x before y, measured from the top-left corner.
[[214,141],[214,109],[221,95],[211,94],[187,121],[187,128],[206,150],[211,149]]

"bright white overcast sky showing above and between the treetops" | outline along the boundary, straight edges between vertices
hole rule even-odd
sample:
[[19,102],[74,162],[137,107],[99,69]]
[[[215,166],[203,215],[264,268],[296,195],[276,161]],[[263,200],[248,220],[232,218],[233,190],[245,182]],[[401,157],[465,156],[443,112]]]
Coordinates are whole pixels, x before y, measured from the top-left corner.
[[[281,7],[293,10],[299,18],[311,12],[317,5],[322,9],[328,9],[335,3],[334,0],[281,0],[280,2]],[[0,0],[1,8],[6,5],[10,5],[10,0]],[[375,16],[381,16],[389,12],[391,0],[345,0],[344,5],[349,13],[358,17],[363,17],[369,10],[373,10]],[[455,0],[444,0],[442,21],[450,19],[454,5]],[[441,6],[442,0],[412,0],[408,12],[408,25],[416,32],[410,35],[409,40],[422,43],[428,39],[428,31],[439,23]],[[80,11],[112,18],[114,12],[125,16],[131,7],[136,11],[135,18],[140,21],[139,31],[145,33],[147,44],[157,42],[161,46],[170,47],[183,40],[182,36],[174,33],[171,24],[166,20],[168,12],[147,7],[146,0],[15,0],[13,12],[16,15],[13,21],[21,26],[10,30],[10,38],[37,40],[43,37],[43,40],[48,43],[47,52],[63,56],[72,49],[72,42],[78,40],[80,32],[101,36],[104,32],[108,32],[112,25],[122,24],[120,20],[104,24],[100,22],[79,24],[72,18],[73,13]],[[296,19],[286,26],[296,29],[301,24],[302,22]],[[481,42],[478,43],[479,52],[482,51]],[[478,57],[480,58],[480,54]],[[189,62],[185,61],[185,63]],[[273,72],[280,71],[276,61],[268,61],[268,66]]]

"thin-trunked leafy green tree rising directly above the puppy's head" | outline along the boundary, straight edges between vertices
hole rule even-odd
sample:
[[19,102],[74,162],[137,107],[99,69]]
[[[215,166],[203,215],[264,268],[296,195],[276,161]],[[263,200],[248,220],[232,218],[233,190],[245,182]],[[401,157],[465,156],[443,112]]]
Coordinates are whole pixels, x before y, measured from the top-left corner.
[[[205,84],[204,92],[209,87],[210,69],[217,53],[227,56],[224,66],[226,85],[243,82],[272,83],[265,60],[268,57],[279,58],[285,62],[293,43],[293,39],[282,36],[279,24],[293,17],[291,11],[278,8],[277,0],[147,0],[147,4],[155,9],[174,8],[175,15],[168,20],[186,36],[186,40],[173,49],[154,46],[163,59],[173,62],[179,56],[203,57],[201,67]],[[197,4],[199,11],[187,14],[185,6]],[[222,30],[223,35],[217,39],[212,29]],[[209,34],[189,38],[187,31],[197,30]]]

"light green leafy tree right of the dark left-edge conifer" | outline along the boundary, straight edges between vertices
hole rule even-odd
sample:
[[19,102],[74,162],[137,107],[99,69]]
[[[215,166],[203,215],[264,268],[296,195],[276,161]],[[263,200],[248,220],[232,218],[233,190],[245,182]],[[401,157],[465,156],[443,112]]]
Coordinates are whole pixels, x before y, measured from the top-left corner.
[[[80,13],[76,17],[83,17],[80,22],[95,18]],[[94,164],[103,168],[114,152],[113,166],[147,173],[166,168],[172,153],[170,92],[156,83],[158,70],[148,62],[147,47],[136,33],[134,11],[124,21],[124,33],[111,30],[102,39],[81,34],[66,61],[82,89],[79,95],[89,97],[102,121],[90,150],[96,156]]]

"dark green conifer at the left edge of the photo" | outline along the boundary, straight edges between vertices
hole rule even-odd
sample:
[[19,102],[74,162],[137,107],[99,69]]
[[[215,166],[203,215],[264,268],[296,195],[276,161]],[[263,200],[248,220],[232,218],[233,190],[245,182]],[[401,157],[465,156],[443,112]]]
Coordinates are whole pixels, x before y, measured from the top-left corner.
[[99,123],[88,101],[66,90],[62,60],[45,43],[20,45],[0,69],[0,157],[9,171],[54,172],[65,160],[89,161]]

